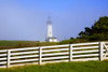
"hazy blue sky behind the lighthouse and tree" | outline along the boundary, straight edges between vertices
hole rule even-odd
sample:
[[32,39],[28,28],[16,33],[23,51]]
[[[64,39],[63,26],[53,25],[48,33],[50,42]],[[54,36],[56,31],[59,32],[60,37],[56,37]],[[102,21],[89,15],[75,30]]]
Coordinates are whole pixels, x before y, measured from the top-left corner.
[[108,0],[0,0],[0,40],[42,41],[49,16],[54,37],[76,38],[108,16]]

